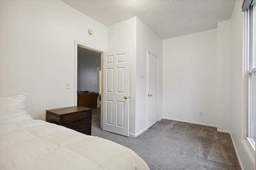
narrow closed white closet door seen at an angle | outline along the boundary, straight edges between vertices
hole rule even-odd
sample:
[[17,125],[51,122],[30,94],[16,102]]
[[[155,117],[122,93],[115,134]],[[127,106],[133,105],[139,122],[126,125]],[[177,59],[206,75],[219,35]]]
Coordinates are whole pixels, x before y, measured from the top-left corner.
[[148,52],[148,128],[158,121],[158,57]]

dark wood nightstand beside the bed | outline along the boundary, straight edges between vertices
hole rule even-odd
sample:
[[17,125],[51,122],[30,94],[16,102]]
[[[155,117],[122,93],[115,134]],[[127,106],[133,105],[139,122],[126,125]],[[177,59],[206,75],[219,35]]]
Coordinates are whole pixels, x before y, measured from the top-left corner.
[[46,110],[46,121],[91,135],[92,109],[82,106]]

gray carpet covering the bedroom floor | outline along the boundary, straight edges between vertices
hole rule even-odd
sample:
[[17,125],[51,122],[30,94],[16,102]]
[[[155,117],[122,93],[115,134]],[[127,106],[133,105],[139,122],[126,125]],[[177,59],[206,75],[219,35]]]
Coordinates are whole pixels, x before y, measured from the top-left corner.
[[124,137],[100,129],[97,108],[92,135],[134,150],[150,170],[240,170],[230,135],[214,127],[163,119],[138,137]]

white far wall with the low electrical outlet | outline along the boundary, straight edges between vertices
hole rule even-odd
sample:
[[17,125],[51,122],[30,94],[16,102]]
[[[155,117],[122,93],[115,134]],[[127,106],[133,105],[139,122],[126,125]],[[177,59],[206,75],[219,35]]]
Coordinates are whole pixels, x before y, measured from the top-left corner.
[[165,119],[216,125],[216,56],[217,29],[163,41]]

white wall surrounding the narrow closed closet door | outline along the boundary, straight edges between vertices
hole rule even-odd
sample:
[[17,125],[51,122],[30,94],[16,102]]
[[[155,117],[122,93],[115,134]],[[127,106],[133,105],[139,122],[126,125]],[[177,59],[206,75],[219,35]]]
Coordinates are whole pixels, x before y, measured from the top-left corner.
[[136,68],[136,128],[135,135],[147,127],[147,50],[159,57],[159,103],[162,117],[162,49],[163,40],[140,19],[136,20],[137,68]]

